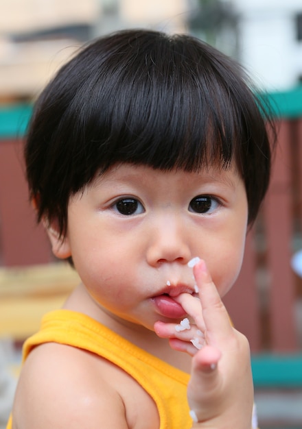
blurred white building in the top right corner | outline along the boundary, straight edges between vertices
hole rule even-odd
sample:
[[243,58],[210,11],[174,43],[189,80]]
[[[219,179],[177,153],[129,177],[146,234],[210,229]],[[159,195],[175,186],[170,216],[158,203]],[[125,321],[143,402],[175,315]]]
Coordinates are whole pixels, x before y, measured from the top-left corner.
[[302,1],[233,0],[240,60],[260,85],[288,90],[302,80]]

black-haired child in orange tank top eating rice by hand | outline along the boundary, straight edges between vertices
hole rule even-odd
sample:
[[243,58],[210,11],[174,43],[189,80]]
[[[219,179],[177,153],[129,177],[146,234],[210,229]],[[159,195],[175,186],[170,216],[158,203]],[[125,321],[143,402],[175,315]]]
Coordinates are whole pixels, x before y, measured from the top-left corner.
[[8,428],[251,428],[248,342],[220,297],[268,186],[265,120],[190,36],[125,30],[62,67],[25,161],[82,283],[26,341]]

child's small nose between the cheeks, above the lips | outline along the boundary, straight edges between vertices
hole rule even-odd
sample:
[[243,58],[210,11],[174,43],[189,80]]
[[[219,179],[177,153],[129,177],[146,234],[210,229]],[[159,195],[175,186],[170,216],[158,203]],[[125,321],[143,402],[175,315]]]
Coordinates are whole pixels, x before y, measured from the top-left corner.
[[148,263],[157,267],[163,262],[187,264],[190,259],[189,232],[185,223],[173,215],[156,221],[150,232]]

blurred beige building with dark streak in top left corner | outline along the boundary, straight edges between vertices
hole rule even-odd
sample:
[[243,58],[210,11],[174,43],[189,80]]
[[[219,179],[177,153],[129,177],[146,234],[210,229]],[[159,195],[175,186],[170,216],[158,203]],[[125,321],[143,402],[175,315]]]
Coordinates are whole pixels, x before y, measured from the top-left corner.
[[1,0],[0,101],[35,97],[98,14],[96,0]]

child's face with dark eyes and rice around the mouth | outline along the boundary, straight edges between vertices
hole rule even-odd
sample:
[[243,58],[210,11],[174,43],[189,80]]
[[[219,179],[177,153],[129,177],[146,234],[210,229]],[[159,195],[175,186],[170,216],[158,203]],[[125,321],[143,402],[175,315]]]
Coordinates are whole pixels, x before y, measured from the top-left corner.
[[86,289],[108,314],[153,329],[185,315],[173,296],[194,291],[187,262],[207,263],[220,295],[242,264],[248,206],[235,169],[163,172],[119,164],[69,201],[65,241]]

